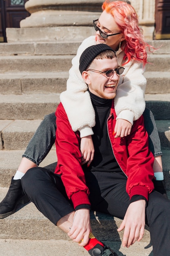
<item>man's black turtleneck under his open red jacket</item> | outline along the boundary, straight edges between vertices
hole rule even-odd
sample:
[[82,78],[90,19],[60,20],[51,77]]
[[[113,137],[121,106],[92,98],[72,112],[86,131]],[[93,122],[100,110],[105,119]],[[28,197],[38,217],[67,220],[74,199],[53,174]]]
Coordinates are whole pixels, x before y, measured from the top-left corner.
[[87,170],[122,172],[113,155],[107,130],[107,119],[110,115],[112,99],[103,99],[91,92],[90,96],[96,117],[96,125],[93,127],[94,135],[92,135],[95,154],[94,159]]

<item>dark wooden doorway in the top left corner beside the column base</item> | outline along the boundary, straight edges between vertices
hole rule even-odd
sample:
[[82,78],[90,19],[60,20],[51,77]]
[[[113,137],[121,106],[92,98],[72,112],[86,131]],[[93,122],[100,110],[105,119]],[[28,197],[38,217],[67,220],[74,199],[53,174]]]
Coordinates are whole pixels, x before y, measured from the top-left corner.
[[26,1],[0,0],[0,42],[7,42],[7,27],[20,27],[20,21],[30,15],[24,8]]

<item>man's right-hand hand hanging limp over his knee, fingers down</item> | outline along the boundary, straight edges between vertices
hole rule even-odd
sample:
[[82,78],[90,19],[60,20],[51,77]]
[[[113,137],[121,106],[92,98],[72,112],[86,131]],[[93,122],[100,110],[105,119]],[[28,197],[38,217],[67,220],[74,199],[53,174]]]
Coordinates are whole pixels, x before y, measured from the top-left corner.
[[122,240],[123,247],[129,247],[136,241],[139,242],[144,236],[145,229],[145,200],[138,200],[132,202],[124,216],[119,229],[121,231],[124,229],[124,236]]

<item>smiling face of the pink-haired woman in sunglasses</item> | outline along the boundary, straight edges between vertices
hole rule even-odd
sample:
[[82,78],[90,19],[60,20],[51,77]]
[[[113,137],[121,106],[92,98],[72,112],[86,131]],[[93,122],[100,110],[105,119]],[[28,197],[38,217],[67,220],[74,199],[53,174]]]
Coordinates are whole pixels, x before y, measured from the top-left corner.
[[[97,27],[108,35],[120,32],[113,16],[106,11],[103,11],[99,17]],[[119,48],[119,43],[124,40],[124,35],[121,33],[115,36],[109,36],[108,38],[102,38],[99,31],[96,31],[96,39],[97,43],[104,43],[109,45],[113,50],[117,51]]]

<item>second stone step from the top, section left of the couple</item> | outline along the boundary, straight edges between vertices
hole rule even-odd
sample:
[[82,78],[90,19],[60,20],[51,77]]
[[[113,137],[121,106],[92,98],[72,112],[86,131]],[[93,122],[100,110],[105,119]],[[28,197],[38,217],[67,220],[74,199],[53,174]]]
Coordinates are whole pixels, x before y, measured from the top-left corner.
[[74,55],[0,56],[0,71],[4,72],[61,72],[71,68]]

